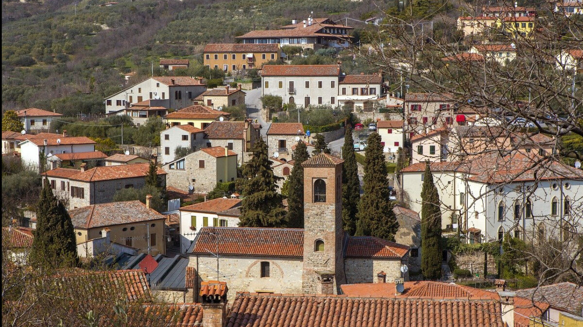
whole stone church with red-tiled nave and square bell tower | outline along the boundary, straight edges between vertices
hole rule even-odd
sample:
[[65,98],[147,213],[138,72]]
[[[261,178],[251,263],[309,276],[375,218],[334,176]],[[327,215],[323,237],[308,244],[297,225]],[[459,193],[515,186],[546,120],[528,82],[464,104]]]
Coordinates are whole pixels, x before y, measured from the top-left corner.
[[304,229],[203,227],[188,250],[201,282],[236,292],[340,294],[340,285],[408,280],[409,247],[342,229],[342,163],[319,154],[304,167]]

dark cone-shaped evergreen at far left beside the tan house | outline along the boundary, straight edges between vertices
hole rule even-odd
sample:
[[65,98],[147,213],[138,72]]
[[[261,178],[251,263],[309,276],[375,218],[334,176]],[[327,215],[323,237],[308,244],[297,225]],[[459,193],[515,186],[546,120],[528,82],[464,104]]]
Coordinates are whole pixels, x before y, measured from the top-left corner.
[[65,206],[52,194],[44,180],[37,205],[37,229],[29,255],[30,262],[48,268],[64,268],[79,263],[73,223]]

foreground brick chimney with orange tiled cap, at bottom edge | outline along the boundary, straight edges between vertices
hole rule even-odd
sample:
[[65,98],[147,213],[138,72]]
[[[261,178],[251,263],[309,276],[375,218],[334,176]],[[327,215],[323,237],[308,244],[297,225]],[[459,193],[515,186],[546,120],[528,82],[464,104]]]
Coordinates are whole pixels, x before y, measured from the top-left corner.
[[201,306],[204,312],[202,315],[203,326],[223,327],[223,325],[226,325],[228,290],[226,282],[209,280],[201,283],[199,296],[202,298]]

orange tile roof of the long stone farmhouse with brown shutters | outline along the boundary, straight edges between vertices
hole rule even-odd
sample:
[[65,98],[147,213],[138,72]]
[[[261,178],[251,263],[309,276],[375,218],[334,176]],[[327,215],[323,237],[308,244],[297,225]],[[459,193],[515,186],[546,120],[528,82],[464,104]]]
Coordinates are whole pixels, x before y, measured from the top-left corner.
[[[145,177],[150,169],[150,163],[134,163],[133,165],[118,165],[118,166],[100,166],[95,167],[85,172],[69,177],[72,180],[81,180],[83,182],[97,182],[100,180],[113,180],[132,177]],[[158,175],[166,175],[164,169],[158,167]]]

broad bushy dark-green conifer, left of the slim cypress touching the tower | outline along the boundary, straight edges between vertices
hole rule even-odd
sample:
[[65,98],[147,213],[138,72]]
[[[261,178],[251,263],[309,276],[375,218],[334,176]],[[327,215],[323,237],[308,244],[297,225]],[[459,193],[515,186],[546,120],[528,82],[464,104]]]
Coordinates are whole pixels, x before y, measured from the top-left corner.
[[282,196],[277,193],[276,182],[281,177],[273,175],[267,145],[259,138],[253,146],[253,157],[243,167],[241,182],[241,227],[285,227],[286,210]]

